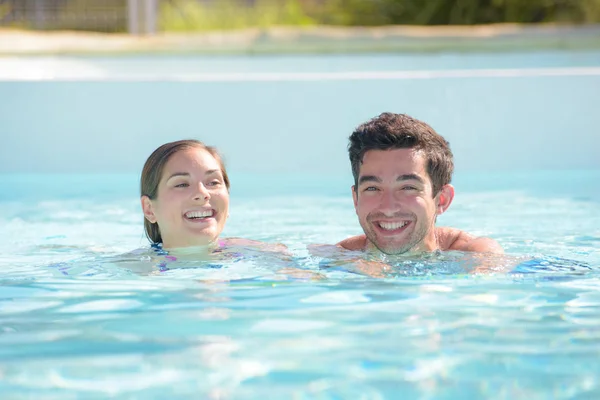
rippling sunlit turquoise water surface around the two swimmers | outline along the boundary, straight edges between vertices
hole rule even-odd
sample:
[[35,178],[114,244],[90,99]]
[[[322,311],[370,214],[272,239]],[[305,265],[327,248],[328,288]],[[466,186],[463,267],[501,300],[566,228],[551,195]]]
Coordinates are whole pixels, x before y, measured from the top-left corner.
[[505,256],[388,258],[375,274],[306,248],[359,232],[345,196],[237,198],[227,234],[289,255],[238,249],[166,268],[138,207],[3,203],[2,397],[600,394],[594,201],[464,192],[440,222],[495,237]]

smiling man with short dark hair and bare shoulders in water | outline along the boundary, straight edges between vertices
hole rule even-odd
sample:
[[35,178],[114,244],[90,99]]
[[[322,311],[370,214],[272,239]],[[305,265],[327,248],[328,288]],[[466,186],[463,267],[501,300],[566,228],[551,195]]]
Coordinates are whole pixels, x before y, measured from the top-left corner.
[[383,113],[360,125],[348,146],[354,208],[364,235],[338,243],[347,250],[385,254],[434,250],[502,253],[490,238],[436,228],[454,198],[448,142],[426,123]]

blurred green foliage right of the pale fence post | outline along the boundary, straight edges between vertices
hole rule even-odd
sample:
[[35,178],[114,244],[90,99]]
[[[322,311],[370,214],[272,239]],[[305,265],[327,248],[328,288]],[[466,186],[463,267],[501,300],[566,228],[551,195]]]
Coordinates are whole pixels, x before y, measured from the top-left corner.
[[600,0],[169,0],[161,6],[168,31],[501,22],[600,22]]

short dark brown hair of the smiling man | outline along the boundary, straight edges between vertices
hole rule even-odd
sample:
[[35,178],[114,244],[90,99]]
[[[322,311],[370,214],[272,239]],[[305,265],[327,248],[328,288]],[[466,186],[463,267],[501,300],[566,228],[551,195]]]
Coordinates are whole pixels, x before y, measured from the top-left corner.
[[350,135],[348,155],[354,184],[369,150],[415,149],[425,155],[433,195],[450,183],[454,161],[450,144],[431,126],[405,114],[383,113],[358,126]]

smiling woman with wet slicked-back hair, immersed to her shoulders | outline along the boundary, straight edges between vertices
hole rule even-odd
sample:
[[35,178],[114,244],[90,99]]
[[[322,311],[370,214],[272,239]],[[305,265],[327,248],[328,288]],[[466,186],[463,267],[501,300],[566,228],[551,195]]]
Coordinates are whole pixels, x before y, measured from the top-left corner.
[[214,147],[179,140],[154,150],[140,182],[144,228],[152,247],[161,255],[168,251],[168,261],[177,259],[173,254],[222,252],[232,246],[285,250],[283,245],[250,239],[219,239],[229,217],[229,187],[227,170]]

